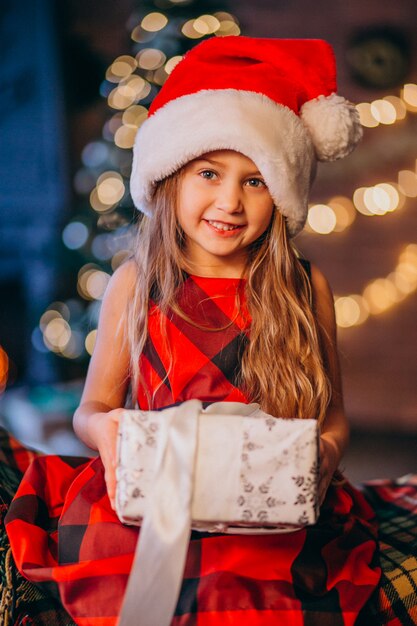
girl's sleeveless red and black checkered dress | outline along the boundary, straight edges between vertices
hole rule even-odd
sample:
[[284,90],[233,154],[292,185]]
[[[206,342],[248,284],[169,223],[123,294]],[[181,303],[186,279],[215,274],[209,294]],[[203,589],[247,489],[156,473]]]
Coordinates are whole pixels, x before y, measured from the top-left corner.
[[[236,386],[249,328],[244,281],[187,276],[179,303],[185,318],[170,311],[163,336],[151,303],[139,406],[246,401]],[[99,458],[39,457],[6,517],[19,570],[59,590],[79,626],[116,624],[140,535],[118,521],[103,474]],[[297,532],[193,531],[172,626],[369,626],[376,546],[374,513],[348,483],[330,487],[318,523]]]

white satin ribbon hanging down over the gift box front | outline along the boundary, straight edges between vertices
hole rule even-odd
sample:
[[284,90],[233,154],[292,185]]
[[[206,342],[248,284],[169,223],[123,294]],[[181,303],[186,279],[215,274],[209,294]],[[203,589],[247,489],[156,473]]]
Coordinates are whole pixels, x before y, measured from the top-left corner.
[[164,411],[155,484],[143,518],[118,626],[169,626],[191,532],[199,400]]

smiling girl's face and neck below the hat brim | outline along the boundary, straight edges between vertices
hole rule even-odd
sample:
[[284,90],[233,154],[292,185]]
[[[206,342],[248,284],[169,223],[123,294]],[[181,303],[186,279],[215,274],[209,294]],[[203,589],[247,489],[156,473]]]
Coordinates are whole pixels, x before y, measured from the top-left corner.
[[184,167],[177,220],[194,274],[242,275],[250,245],[268,228],[274,204],[256,165],[243,154],[217,150]]

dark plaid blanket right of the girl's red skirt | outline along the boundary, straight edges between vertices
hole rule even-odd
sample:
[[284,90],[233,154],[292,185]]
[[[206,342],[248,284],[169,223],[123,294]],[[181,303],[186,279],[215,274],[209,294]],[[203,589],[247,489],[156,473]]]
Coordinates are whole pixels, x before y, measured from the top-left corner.
[[417,475],[366,483],[379,522],[381,583],[370,605],[376,623],[417,624]]

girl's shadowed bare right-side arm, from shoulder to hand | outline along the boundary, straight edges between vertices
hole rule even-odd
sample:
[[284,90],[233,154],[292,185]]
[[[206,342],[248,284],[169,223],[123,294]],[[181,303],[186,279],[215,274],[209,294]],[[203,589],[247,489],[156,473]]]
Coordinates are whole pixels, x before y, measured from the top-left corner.
[[324,363],[332,387],[332,396],[320,436],[319,501],[321,504],[348,445],[349,425],[343,405],[333,294],[326,278],[314,265],[311,265],[311,284]]

